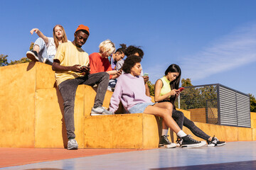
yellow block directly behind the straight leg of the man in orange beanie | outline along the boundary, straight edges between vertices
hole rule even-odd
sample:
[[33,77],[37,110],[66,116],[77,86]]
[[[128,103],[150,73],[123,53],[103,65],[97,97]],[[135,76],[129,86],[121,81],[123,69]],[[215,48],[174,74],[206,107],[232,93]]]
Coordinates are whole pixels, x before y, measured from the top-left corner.
[[[85,85],[78,86],[75,95],[75,135],[79,147],[83,148],[83,117]],[[63,98],[58,89],[36,91],[36,140],[35,147],[64,148],[67,146]]]

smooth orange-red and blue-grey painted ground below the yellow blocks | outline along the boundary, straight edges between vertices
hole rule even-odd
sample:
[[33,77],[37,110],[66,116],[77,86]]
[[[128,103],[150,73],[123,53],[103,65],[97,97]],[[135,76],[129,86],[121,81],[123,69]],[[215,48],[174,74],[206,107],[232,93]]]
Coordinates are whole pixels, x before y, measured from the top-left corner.
[[256,141],[174,149],[0,148],[0,169],[256,169]]

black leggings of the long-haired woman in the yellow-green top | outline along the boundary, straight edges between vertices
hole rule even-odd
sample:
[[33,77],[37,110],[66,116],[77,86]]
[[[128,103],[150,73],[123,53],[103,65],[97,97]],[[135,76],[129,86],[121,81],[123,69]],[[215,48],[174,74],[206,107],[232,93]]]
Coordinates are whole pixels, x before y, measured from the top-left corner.
[[191,120],[189,120],[188,118],[186,118],[183,114],[183,112],[181,111],[176,111],[174,109],[173,113],[172,113],[172,118],[174,118],[174,120],[176,121],[176,123],[178,124],[178,127],[183,128],[183,125],[188,128],[189,130],[191,130],[191,132],[193,132],[194,135],[196,135],[197,137],[202,138],[203,140],[208,140],[210,136],[206,135],[205,132],[203,132],[203,130],[199,129],[195,123],[193,123]]

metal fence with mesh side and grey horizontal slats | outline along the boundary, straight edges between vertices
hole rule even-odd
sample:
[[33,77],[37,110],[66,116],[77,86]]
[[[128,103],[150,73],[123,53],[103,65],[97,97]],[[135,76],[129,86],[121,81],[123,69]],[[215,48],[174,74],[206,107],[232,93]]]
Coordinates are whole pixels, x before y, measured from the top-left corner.
[[176,107],[191,111],[191,120],[250,128],[250,96],[221,84],[188,86]]

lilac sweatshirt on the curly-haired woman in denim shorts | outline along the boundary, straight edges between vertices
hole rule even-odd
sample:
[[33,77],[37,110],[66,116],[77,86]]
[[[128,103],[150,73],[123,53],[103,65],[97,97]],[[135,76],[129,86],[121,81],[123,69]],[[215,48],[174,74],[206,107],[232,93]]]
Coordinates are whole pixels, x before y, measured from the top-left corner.
[[124,73],[117,79],[117,85],[110,99],[110,111],[117,111],[120,101],[128,111],[138,103],[151,103],[151,98],[145,94],[145,85],[142,77],[134,77]]

